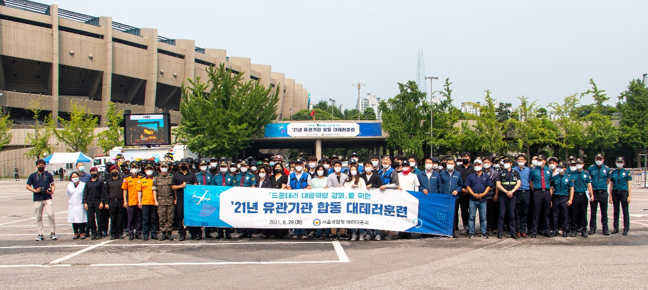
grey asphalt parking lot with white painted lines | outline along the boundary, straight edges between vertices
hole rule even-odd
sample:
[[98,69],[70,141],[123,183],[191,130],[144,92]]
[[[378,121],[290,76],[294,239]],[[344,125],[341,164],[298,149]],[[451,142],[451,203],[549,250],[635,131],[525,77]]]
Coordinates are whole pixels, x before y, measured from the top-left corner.
[[[34,241],[32,194],[0,181],[3,289],[648,288],[648,190],[632,194],[628,236],[160,242],[71,240],[65,184],[54,195],[59,240]],[[611,227],[611,205],[608,216]]]

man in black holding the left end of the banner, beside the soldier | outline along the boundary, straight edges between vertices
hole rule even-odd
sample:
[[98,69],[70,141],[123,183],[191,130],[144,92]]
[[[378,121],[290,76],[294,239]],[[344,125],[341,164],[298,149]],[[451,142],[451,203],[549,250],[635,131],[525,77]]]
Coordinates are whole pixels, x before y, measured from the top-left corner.
[[[171,189],[176,191],[176,215],[174,216],[174,221],[176,222],[176,227],[178,228],[178,241],[184,241],[187,238],[187,229],[185,229],[184,219],[185,219],[185,188],[187,184],[198,184],[198,179],[194,173],[189,172],[189,165],[187,164],[187,159],[180,159],[179,162],[179,172],[174,173],[171,177]],[[194,227],[188,227],[190,230],[194,230]],[[200,229],[200,227],[198,227]]]

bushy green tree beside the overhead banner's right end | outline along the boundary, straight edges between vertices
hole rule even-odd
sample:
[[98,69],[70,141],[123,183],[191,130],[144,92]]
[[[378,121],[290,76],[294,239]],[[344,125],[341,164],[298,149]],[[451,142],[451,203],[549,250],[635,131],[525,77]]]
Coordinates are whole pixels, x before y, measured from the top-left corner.
[[382,129],[389,134],[389,146],[401,148],[420,159],[426,132],[430,130],[421,124],[425,122],[425,112],[429,111],[430,105],[426,104],[426,93],[419,91],[416,82],[398,85],[400,93],[378,105],[382,112]]

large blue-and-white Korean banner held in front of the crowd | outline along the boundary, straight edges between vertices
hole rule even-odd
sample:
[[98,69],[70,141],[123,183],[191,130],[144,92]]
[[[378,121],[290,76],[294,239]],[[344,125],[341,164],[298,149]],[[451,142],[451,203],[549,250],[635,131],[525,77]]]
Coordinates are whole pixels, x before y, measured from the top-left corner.
[[186,226],[357,228],[452,236],[454,195],[378,188],[274,190],[187,185]]

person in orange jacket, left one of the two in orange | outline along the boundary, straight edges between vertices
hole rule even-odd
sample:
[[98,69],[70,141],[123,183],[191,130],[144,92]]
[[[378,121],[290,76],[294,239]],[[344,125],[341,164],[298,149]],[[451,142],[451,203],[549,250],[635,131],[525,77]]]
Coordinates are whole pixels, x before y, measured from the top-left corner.
[[137,187],[139,186],[139,164],[137,161],[130,162],[130,175],[124,178],[122,190],[124,190],[124,208],[128,215],[126,227],[128,229],[128,240],[142,240],[142,210],[137,200]]

